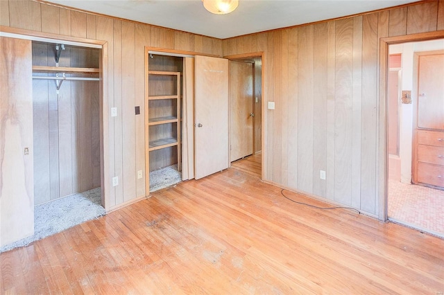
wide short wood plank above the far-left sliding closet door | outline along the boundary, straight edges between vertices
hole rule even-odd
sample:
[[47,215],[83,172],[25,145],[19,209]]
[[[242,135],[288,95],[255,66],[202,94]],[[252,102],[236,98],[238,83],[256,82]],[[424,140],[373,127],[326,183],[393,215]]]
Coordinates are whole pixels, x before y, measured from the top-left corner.
[[9,21],[14,28],[42,30],[40,3],[34,1],[9,1]]

